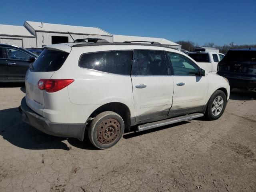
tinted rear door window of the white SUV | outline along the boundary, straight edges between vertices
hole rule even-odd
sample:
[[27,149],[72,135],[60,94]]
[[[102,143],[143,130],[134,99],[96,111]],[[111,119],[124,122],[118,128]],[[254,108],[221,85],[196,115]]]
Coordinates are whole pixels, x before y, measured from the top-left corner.
[[137,50],[132,75],[167,75],[166,58],[163,51]]

